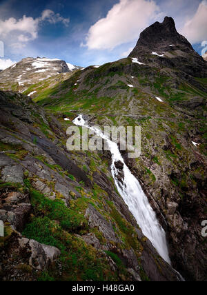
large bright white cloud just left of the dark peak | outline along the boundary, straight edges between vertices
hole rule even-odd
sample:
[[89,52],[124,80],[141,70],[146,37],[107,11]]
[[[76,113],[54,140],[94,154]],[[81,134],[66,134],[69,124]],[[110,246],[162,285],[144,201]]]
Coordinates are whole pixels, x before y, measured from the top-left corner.
[[133,41],[158,12],[153,0],[119,0],[105,18],[90,27],[86,45],[89,49],[113,49]]

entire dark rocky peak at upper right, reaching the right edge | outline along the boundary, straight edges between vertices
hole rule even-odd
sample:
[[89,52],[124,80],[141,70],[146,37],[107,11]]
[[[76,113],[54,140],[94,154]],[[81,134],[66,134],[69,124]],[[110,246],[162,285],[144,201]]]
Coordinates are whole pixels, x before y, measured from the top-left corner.
[[177,32],[172,17],[165,17],[163,23],[157,21],[141,32],[137,45],[128,57],[137,57],[144,63],[150,61],[163,68],[180,70],[193,77],[206,77],[207,74],[204,59]]

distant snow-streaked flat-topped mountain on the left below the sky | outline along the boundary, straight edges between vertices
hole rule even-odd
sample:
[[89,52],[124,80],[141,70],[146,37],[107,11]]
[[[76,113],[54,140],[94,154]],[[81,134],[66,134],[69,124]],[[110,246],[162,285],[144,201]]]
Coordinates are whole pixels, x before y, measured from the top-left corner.
[[28,57],[0,72],[0,88],[24,92],[30,85],[59,74],[67,76],[79,68],[60,59]]

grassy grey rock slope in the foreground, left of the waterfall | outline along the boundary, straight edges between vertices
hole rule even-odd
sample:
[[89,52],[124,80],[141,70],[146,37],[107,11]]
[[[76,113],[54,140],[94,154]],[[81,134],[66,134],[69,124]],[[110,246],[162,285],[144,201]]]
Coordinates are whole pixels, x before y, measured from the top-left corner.
[[68,153],[63,116],[14,92],[0,99],[0,279],[178,281],[117,194],[107,156]]

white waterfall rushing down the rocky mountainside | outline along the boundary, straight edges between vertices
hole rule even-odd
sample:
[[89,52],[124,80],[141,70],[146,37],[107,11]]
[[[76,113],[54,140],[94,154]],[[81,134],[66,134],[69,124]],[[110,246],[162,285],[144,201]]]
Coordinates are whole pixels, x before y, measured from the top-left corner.
[[[102,139],[106,140],[112,154],[111,171],[115,180],[117,190],[128,205],[130,212],[135,216],[137,224],[141,227],[143,234],[151,241],[159,255],[164,258],[165,261],[170,263],[168,254],[168,246],[166,242],[166,233],[164,229],[159,225],[155,212],[152,210],[146,194],[141,189],[139,181],[132,175],[127,165],[124,163],[124,159],[119,152],[117,143],[114,143],[108,139],[99,129],[86,125],[86,121],[83,116],[79,115],[74,121],[75,125],[85,126],[86,128],[93,130]],[[115,167],[115,163],[120,161],[124,164],[124,179],[122,184],[117,181],[117,175],[119,170]]]

